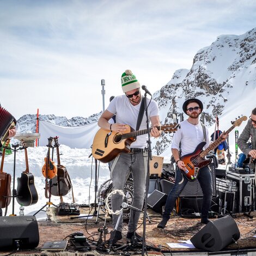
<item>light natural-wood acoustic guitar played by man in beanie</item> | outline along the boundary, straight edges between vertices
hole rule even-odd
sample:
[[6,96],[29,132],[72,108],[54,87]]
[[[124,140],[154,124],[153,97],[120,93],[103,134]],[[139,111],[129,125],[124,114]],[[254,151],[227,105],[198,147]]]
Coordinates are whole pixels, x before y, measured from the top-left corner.
[[[136,141],[136,136],[148,133],[147,129],[134,131],[131,126],[125,125],[125,133],[119,133],[100,129],[97,131],[93,140],[93,157],[102,163],[113,160],[122,152],[130,152],[130,145]],[[164,132],[174,132],[177,130],[177,124],[162,125],[156,128]],[[150,128],[151,131],[151,128]]]

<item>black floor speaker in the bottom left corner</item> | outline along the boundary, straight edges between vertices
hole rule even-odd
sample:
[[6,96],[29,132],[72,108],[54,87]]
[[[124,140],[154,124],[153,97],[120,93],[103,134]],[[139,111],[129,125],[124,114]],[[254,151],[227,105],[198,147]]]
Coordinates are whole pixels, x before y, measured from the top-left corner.
[[0,217],[0,249],[35,248],[39,244],[35,216]]

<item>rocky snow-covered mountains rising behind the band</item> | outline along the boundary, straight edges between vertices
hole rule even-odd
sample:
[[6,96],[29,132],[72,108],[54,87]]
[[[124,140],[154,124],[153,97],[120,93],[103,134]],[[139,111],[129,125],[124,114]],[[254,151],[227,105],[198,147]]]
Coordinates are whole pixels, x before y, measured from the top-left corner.
[[[222,130],[227,130],[238,115],[249,115],[255,107],[255,53],[256,28],[242,35],[218,36],[210,46],[199,50],[190,70],[176,70],[172,79],[153,95],[160,107],[161,123],[173,123],[173,113],[180,120],[182,104],[190,97],[202,100],[206,125],[214,125],[217,115]],[[96,121],[100,114],[71,119],[51,114],[40,115],[39,119],[61,126],[81,126]],[[36,115],[23,115],[17,121],[17,131],[35,132],[35,123]],[[156,154],[165,153],[172,136],[164,134],[153,142]]]

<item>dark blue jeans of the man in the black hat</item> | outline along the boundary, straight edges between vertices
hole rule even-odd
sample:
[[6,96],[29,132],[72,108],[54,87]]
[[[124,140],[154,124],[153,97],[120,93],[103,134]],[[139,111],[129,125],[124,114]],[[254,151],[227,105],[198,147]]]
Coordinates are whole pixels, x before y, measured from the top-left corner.
[[[211,207],[211,198],[212,198],[212,179],[211,179],[211,173],[208,166],[200,169],[198,181],[203,191],[201,216],[202,218],[207,218],[208,212]],[[186,186],[187,182],[193,182],[193,181],[188,181],[186,178],[184,178],[180,169],[178,168],[176,170],[175,184],[172,190],[169,192],[166,200],[166,206],[164,208],[163,218],[168,218],[168,219],[170,218],[170,213],[172,212],[175,206],[176,199],[179,197],[181,191]]]

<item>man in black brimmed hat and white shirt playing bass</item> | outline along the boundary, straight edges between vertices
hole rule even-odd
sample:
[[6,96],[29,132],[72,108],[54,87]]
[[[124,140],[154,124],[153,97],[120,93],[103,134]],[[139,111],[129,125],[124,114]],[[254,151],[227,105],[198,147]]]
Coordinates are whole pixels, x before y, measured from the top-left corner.
[[[197,145],[201,142],[206,142],[204,149],[208,148],[210,144],[208,129],[205,126],[205,128],[203,128],[202,124],[199,122],[199,115],[203,111],[202,101],[198,99],[188,99],[184,102],[182,109],[185,114],[188,115],[188,119],[180,123],[180,129],[178,129],[173,136],[172,154],[176,166],[178,167],[176,170],[175,184],[168,194],[162,221],[157,225],[157,228],[164,228],[166,226],[170,218],[170,213],[175,206],[176,199],[188,182],[188,179],[184,178],[181,173],[181,170],[186,171],[186,165],[180,160],[180,157],[193,153]],[[223,134],[222,137],[225,139],[227,135]],[[198,181],[203,191],[201,222],[207,224],[209,222],[208,212],[212,198],[212,179],[209,166],[200,169]]]

